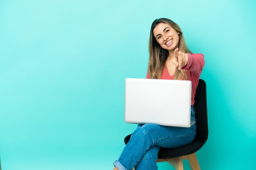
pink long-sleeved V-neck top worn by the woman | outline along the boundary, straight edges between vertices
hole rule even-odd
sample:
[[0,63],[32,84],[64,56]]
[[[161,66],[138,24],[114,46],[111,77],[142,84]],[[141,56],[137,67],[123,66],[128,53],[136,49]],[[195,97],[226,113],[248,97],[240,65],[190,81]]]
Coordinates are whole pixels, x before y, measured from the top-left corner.
[[[198,87],[198,81],[200,74],[204,68],[204,54],[188,54],[189,61],[182,67],[184,70],[189,71],[188,80],[191,81],[191,105],[195,103],[195,91]],[[150,78],[149,71],[147,72],[146,78]],[[173,80],[174,75],[170,76],[167,68],[164,66],[161,79]]]

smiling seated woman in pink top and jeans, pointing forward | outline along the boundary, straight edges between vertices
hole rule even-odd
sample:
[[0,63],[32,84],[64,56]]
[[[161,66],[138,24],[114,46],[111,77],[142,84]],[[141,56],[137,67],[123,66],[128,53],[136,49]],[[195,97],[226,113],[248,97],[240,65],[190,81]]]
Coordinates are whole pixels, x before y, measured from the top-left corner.
[[[192,83],[191,120],[195,120],[194,98],[204,55],[194,54],[186,46],[180,27],[167,18],[153,22],[149,39],[149,61],[146,78],[189,80]],[[190,128],[139,124],[132,133],[114,170],[157,170],[160,147],[176,148],[195,138],[196,124]]]

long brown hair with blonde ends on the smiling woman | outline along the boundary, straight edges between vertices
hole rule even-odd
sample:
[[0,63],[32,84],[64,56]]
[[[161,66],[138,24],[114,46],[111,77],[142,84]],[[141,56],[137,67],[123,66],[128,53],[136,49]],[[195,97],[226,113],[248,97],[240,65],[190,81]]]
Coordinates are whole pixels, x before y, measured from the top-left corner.
[[[178,44],[179,51],[192,54],[192,52],[186,46],[180,26],[178,26],[175,22],[173,22],[172,20],[169,20],[167,18],[156,19],[151,25],[150,37],[149,37],[149,43],[148,43],[148,51],[149,51],[148,70],[149,70],[150,78],[152,78],[152,79],[160,79],[161,78],[164,64],[165,64],[165,61],[169,54],[168,50],[162,48],[158,44],[158,42],[155,39],[154,34],[153,34],[154,28],[159,23],[168,24],[175,31],[179,32],[180,33],[179,44]],[[178,70],[178,68],[176,68],[176,71],[174,74],[175,80],[187,80],[187,77],[188,76],[187,76],[186,70]]]

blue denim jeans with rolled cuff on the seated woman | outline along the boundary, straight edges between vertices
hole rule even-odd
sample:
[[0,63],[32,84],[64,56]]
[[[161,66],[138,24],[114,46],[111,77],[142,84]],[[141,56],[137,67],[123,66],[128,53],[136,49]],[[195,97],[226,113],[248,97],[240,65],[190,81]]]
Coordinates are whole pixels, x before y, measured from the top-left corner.
[[[191,106],[191,120],[195,120]],[[196,124],[190,128],[139,124],[124,147],[118,161],[113,164],[119,170],[157,170],[157,154],[162,148],[177,148],[193,142]]]

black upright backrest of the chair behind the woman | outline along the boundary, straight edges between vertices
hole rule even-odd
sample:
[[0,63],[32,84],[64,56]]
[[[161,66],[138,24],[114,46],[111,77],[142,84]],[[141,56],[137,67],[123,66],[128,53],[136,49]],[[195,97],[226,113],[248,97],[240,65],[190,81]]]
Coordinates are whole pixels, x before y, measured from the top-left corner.
[[208,138],[208,119],[206,83],[202,79],[199,79],[198,88],[196,89],[194,106],[197,126],[195,140],[205,143]]

